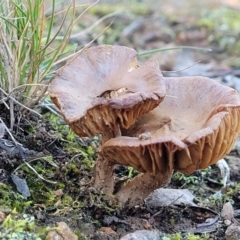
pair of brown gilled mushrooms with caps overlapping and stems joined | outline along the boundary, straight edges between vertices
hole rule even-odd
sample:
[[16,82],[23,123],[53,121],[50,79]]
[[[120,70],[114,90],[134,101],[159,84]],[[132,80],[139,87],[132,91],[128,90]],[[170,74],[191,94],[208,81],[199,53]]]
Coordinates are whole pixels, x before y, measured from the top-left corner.
[[[204,77],[163,77],[157,61],[137,64],[122,46],[91,47],[67,63],[49,93],[80,137],[101,134],[94,186],[133,206],[228,154],[240,133],[240,98]],[[114,168],[139,174],[116,189]],[[119,184],[118,184],[119,185]]]

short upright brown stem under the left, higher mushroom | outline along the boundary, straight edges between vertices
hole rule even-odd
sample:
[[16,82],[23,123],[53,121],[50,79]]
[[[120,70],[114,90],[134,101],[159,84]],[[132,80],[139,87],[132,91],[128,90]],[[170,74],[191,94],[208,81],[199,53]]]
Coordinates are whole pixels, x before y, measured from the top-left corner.
[[114,190],[114,167],[115,163],[98,157],[94,169],[94,184],[96,189],[101,190],[104,194],[112,194]]

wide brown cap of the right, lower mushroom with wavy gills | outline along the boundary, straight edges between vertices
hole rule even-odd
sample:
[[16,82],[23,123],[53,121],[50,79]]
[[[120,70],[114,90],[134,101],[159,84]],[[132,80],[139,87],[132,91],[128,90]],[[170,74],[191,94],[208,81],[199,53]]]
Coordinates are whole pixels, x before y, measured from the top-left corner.
[[122,137],[103,144],[101,154],[140,172],[173,167],[190,174],[230,152],[240,132],[240,98],[204,77],[165,78],[164,101]]

